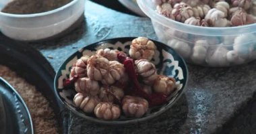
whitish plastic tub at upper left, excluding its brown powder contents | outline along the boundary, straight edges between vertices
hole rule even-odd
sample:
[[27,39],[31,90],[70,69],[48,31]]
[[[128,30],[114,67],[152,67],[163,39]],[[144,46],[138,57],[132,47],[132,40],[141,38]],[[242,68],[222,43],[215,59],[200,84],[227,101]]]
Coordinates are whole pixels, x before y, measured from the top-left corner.
[[[0,0],[0,11],[10,1]],[[83,15],[84,3],[85,0],[73,0],[51,11],[26,15],[0,12],[0,31],[14,40],[51,38],[61,34]]]

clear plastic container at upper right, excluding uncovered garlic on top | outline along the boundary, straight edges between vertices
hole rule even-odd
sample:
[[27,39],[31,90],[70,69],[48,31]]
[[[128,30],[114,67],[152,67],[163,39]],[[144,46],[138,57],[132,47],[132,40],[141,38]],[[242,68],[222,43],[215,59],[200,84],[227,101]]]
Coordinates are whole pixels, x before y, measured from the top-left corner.
[[137,3],[151,18],[158,39],[189,63],[224,67],[256,59],[256,23],[238,27],[187,25],[158,14],[152,1]]

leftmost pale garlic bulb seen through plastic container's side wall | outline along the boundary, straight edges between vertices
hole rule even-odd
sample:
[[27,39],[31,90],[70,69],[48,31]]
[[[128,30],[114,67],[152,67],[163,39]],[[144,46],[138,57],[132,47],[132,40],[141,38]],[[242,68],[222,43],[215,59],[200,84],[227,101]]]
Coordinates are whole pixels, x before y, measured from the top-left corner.
[[184,58],[189,58],[189,56],[191,55],[192,48],[186,42],[172,39],[169,40],[167,44],[168,46],[176,50],[179,54],[181,54],[181,56],[183,56]]

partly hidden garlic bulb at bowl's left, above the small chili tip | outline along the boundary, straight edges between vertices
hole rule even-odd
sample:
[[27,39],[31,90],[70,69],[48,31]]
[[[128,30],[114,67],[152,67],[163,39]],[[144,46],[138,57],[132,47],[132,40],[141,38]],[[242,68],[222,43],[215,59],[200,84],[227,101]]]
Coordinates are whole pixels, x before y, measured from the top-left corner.
[[69,74],[69,78],[73,78],[73,76],[78,75],[79,78],[87,76],[87,61],[89,56],[82,56],[79,58],[72,66]]

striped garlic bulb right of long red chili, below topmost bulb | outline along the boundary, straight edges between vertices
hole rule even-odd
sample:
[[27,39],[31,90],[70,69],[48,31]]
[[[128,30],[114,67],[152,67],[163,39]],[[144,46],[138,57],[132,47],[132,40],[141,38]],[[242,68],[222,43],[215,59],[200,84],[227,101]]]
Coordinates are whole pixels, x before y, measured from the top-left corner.
[[135,69],[145,84],[152,84],[157,78],[156,67],[148,60],[135,60]]

